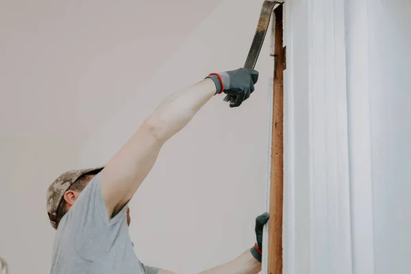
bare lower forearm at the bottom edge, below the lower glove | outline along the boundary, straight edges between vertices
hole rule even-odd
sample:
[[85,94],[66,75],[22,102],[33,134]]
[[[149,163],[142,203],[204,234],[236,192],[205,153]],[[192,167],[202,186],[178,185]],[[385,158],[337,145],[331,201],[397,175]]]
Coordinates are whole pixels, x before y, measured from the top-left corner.
[[261,263],[251,255],[250,251],[247,251],[231,262],[216,266],[199,274],[257,274],[260,271]]

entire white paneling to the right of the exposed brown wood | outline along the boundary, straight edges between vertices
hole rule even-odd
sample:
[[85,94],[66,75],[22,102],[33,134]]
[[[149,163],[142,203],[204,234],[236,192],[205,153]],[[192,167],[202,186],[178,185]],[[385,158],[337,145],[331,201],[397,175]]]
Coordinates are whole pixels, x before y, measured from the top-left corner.
[[411,273],[411,2],[286,7],[284,273]]

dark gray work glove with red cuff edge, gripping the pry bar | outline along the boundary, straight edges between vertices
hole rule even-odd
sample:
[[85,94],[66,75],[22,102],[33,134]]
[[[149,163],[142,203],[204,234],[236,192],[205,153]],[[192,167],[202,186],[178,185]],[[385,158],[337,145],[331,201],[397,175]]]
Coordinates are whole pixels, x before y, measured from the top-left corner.
[[216,84],[217,92],[224,92],[230,108],[236,108],[242,101],[247,100],[254,91],[254,84],[258,81],[258,71],[253,69],[237,69],[223,73],[211,73],[208,77]]

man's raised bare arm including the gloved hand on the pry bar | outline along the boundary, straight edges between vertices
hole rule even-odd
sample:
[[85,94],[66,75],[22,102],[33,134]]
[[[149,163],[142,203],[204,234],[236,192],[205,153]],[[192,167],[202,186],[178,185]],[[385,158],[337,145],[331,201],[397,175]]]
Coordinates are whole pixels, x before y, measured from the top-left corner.
[[101,192],[108,218],[133,197],[153,167],[162,145],[185,127],[214,95],[232,95],[230,107],[248,99],[258,80],[258,72],[238,69],[212,73],[203,81],[167,97],[105,166]]

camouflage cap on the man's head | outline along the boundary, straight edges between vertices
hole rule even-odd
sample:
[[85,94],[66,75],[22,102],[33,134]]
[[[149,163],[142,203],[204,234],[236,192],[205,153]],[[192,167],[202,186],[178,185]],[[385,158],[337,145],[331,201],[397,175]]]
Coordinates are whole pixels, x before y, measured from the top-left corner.
[[101,171],[104,166],[99,166],[94,169],[79,169],[76,171],[67,171],[60,175],[53,184],[47,189],[47,214],[49,214],[49,219],[51,226],[57,229],[57,210],[64,193],[70,188],[74,182],[79,179],[84,174],[91,173],[92,171]]

